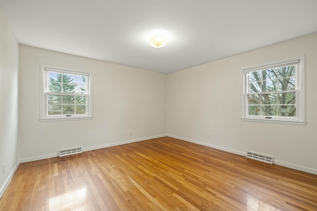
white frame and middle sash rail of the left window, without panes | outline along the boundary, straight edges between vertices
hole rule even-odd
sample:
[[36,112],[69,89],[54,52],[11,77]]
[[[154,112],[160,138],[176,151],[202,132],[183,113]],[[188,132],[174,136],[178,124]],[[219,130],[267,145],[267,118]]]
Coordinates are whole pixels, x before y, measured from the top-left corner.
[[[87,101],[87,114],[78,115],[48,115],[47,113],[47,102],[48,102],[48,72],[62,73],[62,74],[72,74],[87,77],[87,87],[86,94],[76,94],[76,93],[65,93],[61,95],[85,95]],[[59,93],[59,92],[58,92]],[[92,73],[84,72],[79,70],[73,70],[69,68],[57,67],[52,65],[41,64],[41,93],[40,93],[40,121],[69,121],[69,120],[87,120],[92,119]]]

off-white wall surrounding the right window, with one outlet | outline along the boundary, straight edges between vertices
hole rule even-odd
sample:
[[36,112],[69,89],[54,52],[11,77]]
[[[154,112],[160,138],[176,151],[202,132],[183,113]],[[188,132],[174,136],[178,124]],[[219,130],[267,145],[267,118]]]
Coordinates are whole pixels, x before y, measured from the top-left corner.
[[[303,54],[306,126],[241,122],[241,68]],[[170,136],[241,155],[273,156],[276,164],[317,174],[317,34],[179,71],[167,80]]]

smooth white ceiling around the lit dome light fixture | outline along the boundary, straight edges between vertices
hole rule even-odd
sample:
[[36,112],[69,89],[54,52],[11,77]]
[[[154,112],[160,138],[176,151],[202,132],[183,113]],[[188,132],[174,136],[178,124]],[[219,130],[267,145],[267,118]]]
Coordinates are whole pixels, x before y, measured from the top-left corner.
[[[172,73],[317,32],[317,0],[0,0],[19,43]],[[166,46],[148,39],[161,33]]]

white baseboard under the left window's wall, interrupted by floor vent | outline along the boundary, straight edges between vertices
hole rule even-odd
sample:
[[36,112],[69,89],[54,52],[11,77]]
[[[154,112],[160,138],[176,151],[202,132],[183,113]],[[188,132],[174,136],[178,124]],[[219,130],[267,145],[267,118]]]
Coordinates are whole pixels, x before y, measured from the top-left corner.
[[[106,148],[106,147],[128,144],[128,143],[133,143],[133,142],[137,142],[137,141],[144,141],[144,140],[149,140],[149,139],[153,139],[153,138],[160,138],[160,137],[164,137],[164,136],[166,136],[166,134],[155,135],[155,136],[150,136],[150,137],[145,137],[145,138],[132,139],[132,140],[121,141],[121,142],[114,142],[114,143],[110,143],[110,144],[103,144],[103,145],[92,146],[92,147],[85,147],[82,149],[82,151],[84,152],[84,151],[89,151],[89,150],[102,149],[102,148]],[[22,158],[22,159],[20,159],[19,164],[31,162],[31,161],[38,161],[38,160],[47,159],[47,158],[54,158],[54,157],[58,157],[58,156],[59,156],[59,153],[56,152],[56,153],[47,154],[47,155]]]

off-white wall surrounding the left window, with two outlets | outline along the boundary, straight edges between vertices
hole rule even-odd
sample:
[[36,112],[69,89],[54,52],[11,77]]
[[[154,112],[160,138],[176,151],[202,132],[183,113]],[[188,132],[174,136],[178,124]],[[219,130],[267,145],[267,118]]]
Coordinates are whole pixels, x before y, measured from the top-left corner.
[[[93,73],[92,120],[39,121],[41,64]],[[166,135],[166,77],[20,45],[21,161],[54,157],[72,147],[91,150]]]

